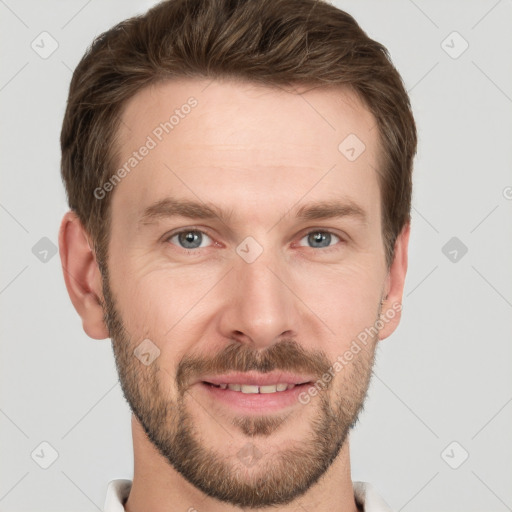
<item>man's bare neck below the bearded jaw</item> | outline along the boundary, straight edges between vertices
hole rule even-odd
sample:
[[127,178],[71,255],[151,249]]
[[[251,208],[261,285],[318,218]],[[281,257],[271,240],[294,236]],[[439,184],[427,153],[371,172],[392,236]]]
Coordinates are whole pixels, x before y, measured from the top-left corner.
[[[185,480],[158,452],[132,415],[134,477],[125,512],[236,512],[240,507],[206,496]],[[349,440],[320,480],[304,495],[287,505],[273,507],[276,512],[315,510],[316,512],[357,512],[350,475]],[[263,509],[252,509],[252,512]],[[268,512],[268,508],[265,509]]]

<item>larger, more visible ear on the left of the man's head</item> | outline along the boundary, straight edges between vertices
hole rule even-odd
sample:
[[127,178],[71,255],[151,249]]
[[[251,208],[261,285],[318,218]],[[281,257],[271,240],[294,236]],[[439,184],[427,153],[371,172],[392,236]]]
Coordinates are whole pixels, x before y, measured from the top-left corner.
[[73,211],[64,215],[59,230],[59,253],[69,297],[82,318],[83,329],[94,339],[109,337],[103,321],[101,273],[92,243]]

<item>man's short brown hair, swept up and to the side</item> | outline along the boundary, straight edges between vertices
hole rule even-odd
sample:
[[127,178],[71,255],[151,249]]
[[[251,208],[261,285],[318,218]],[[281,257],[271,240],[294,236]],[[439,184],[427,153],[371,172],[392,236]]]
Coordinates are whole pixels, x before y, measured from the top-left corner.
[[62,178],[100,268],[107,264],[111,194],[98,200],[94,190],[116,169],[124,105],[149,84],[196,77],[354,91],[377,120],[382,235],[391,264],[396,237],[410,221],[417,134],[386,48],[324,0],[167,0],[98,36],[71,80]]

